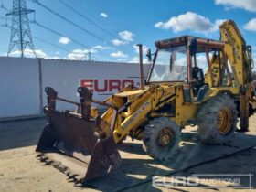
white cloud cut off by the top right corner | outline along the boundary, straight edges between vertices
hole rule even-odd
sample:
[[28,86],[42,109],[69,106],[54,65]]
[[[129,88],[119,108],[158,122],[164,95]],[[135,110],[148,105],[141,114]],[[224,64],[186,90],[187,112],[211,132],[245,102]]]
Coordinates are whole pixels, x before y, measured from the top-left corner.
[[255,0],[215,0],[216,5],[225,5],[228,8],[242,8],[247,11],[256,12]]

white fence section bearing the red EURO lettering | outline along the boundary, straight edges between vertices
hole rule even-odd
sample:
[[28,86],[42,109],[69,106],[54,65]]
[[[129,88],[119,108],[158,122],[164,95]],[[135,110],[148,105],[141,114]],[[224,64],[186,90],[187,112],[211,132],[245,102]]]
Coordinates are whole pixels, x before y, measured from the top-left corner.
[[[79,101],[80,86],[93,90],[93,98],[102,101],[128,83],[137,86],[140,81],[137,64],[50,59],[43,59],[41,64],[43,89],[52,87],[59,92],[59,97],[72,101]],[[144,76],[148,69],[148,65],[144,65]],[[43,92],[43,104],[46,103]],[[57,108],[73,110],[75,106],[59,101]]]

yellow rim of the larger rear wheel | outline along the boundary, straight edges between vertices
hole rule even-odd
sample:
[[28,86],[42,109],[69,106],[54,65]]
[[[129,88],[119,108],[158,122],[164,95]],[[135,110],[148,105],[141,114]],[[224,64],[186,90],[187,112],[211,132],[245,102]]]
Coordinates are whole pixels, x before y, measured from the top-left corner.
[[218,131],[221,134],[227,134],[230,132],[232,126],[232,113],[228,107],[219,110],[217,126]]

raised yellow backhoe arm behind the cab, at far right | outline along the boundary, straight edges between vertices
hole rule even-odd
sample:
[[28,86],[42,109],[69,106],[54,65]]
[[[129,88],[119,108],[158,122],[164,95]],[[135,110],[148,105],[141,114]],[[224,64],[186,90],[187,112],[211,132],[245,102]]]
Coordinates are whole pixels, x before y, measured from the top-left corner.
[[219,26],[222,40],[225,42],[224,57],[229,59],[234,79],[240,87],[239,112],[240,131],[248,131],[249,127],[249,101],[251,98],[251,53],[250,47],[240,34],[239,28],[234,21],[226,21]]

